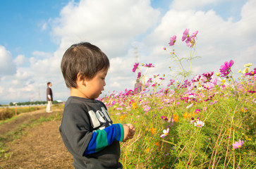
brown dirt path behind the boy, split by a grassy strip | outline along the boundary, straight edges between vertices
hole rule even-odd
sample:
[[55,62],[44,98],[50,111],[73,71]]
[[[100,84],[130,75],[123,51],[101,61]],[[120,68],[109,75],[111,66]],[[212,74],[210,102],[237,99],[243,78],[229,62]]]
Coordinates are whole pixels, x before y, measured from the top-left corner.
[[[60,113],[55,112],[54,113]],[[16,130],[31,119],[47,118],[54,113],[34,112],[0,126],[0,134]],[[73,158],[63,145],[59,134],[60,120],[27,127],[16,142],[7,142],[11,156],[0,159],[0,168],[73,168]],[[3,140],[3,139],[2,139]],[[1,140],[1,142],[2,142]]]

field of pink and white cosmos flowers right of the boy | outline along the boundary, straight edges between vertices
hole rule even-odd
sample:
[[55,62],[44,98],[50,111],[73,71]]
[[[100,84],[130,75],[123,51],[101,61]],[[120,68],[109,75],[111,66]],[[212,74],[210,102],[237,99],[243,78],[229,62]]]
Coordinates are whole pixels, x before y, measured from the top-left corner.
[[[182,40],[192,51],[197,32],[185,30]],[[171,37],[170,46],[176,43]],[[166,50],[166,49],[164,49]],[[100,98],[114,123],[132,123],[135,137],[121,144],[126,168],[256,168],[256,68],[245,64],[233,77],[232,60],[219,73],[191,76],[174,52],[180,76],[164,85],[164,75],[142,72],[152,63],[135,63],[140,89],[126,89]],[[191,80],[189,80],[189,78]]]

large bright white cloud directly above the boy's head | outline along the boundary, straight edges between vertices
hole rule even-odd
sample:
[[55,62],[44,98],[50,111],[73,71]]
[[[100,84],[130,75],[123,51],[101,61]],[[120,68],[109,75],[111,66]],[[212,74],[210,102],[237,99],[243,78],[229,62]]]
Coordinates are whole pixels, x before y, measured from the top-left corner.
[[87,41],[110,58],[122,56],[136,36],[157,23],[159,14],[149,0],[70,2],[55,20],[54,35],[61,37],[61,43],[69,42],[68,46]]

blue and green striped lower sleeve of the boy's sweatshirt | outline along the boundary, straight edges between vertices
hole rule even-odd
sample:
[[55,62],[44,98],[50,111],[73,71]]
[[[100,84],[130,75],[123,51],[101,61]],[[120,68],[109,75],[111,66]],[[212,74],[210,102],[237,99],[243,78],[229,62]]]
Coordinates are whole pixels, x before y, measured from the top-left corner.
[[110,125],[104,128],[104,130],[92,132],[92,137],[85,149],[84,155],[101,151],[105,146],[109,146],[114,141],[123,141],[123,125],[120,123]]

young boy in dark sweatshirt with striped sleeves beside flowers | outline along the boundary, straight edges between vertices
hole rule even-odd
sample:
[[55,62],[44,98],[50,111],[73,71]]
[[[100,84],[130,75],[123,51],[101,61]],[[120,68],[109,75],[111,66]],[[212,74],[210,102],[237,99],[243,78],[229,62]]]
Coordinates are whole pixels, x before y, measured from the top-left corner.
[[113,124],[106,106],[96,100],[104,90],[109,59],[95,45],[73,44],[61,61],[71,96],[66,101],[59,131],[75,168],[123,168],[119,142],[133,138],[131,124]]

